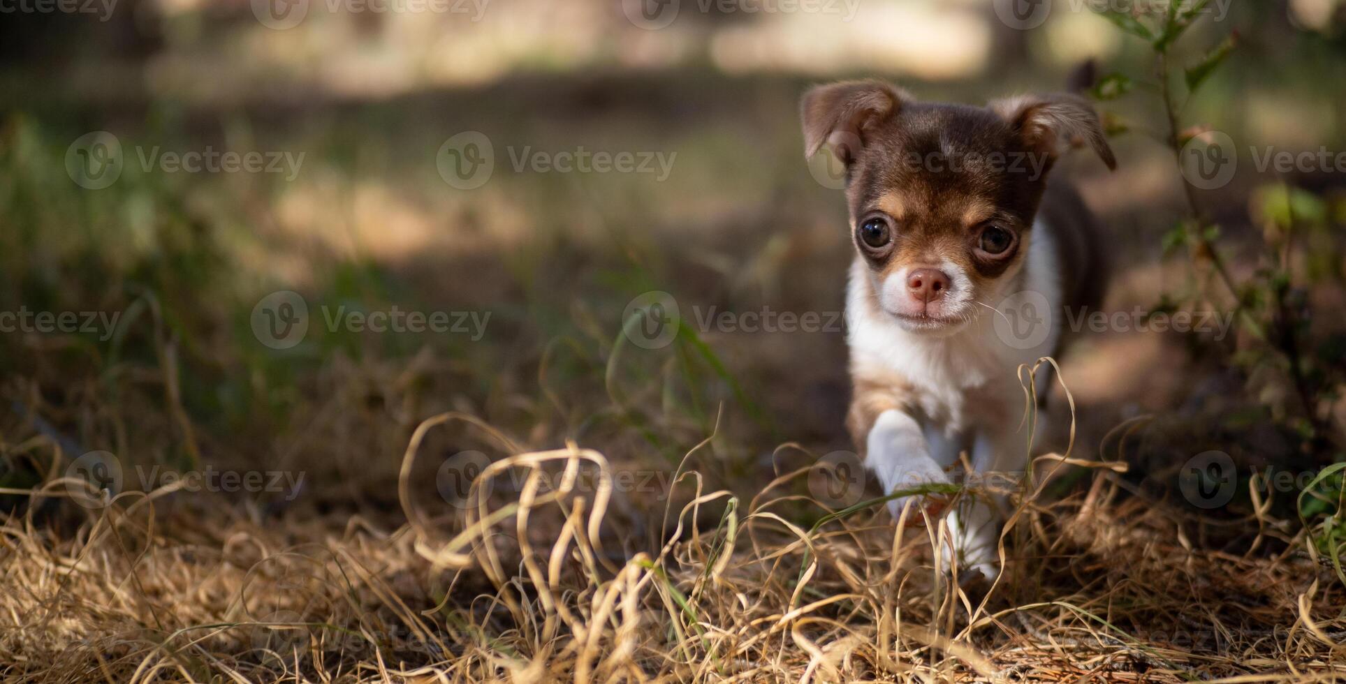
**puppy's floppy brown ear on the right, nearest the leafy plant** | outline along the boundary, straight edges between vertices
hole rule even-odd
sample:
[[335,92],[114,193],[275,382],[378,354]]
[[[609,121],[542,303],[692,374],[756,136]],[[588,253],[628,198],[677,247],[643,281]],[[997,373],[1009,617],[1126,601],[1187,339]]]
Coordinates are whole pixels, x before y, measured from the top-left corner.
[[1102,134],[1102,122],[1088,99],[1078,95],[1022,95],[987,105],[1019,133],[1030,149],[1055,160],[1062,152],[1088,144],[1109,169],[1117,157]]

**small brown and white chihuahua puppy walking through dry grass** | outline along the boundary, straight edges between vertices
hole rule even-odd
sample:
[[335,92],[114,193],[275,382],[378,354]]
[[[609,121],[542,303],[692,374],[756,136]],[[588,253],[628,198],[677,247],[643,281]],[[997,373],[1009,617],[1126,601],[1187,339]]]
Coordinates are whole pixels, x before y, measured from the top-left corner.
[[[1058,353],[1063,308],[1104,290],[1088,211],[1047,181],[1082,144],[1116,167],[1097,113],[1069,94],[918,102],[876,81],[814,87],[801,109],[805,155],[829,144],[845,165],[847,423],[865,465],[887,492],[949,482],[961,453],[977,473],[1020,474],[1019,366]],[[1004,500],[965,503],[945,558],[993,576]]]

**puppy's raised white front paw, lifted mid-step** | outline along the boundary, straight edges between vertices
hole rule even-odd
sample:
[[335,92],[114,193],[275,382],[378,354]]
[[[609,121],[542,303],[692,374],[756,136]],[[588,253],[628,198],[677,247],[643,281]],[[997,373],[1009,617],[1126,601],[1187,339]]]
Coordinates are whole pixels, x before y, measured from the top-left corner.
[[[921,423],[903,411],[890,409],[879,414],[865,438],[865,449],[864,462],[887,493],[930,482],[949,482],[944,468],[930,457]],[[905,496],[888,501],[894,519],[910,499]]]

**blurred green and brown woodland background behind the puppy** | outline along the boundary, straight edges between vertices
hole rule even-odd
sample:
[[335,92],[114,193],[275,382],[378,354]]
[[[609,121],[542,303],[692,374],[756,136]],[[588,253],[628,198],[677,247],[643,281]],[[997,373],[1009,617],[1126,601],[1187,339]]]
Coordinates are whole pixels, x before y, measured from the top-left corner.
[[[1155,54],[1117,19],[1149,5],[5,7],[0,310],[106,317],[54,332],[34,317],[0,337],[11,488],[106,450],[128,469],[303,472],[297,496],[242,497],[258,519],[396,517],[408,439],[441,411],[470,419],[421,447],[413,486],[427,507],[451,499],[436,497],[443,464],[510,445],[575,441],[619,468],[670,473],[715,434],[693,466],[708,486],[747,493],[852,449],[833,316],[852,246],[835,168],[805,160],[797,117],[805,87],[837,78],[981,103],[1062,90],[1096,60],[1120,168],[1079,153],[1054,173],[1104,219],[1119,263],[1109,310],[1233,310],[1206,286],[1201,250],[1174,238],[1189,198]],[[1238,157],[1233,180],[1195,200],[1221,224],[1213,238],[1238,280],[1287,266],[1294,297],[1276,301],[1318,312],[1296,317],[1292,337],[1318,374],[1311,409],[1283,361],[1249,360],[1259,345],[1241,328],[1110,331],[1062,359],[1077,456],[1125,458],[1128,477],[1160,493],[1207,449],[1252,466],[1335,458],[1346,175],[1316,161],[1259,168],[1249,152],[1346,151],[1343,27],[1337,0],[1207,3],[1170,51],[1198,63],[1237,34],[1179,101],[1182,128],[1228,134]],[[1298,242],[1268,251],[1285,227]],[[633,345],[623,312],[647,293],[666,293],[682,327]],[[347,317],[393,310],[441,312],[448,329],[380,332]],[[818,323],[727,328],[720,312]],[[1137,417],[1149,417],[1140,437],[1109,442]],[[1057,449],[1066,427],[1051,427]],[[664,496],[616,505],[653,529],[646,509],[662,511]]]

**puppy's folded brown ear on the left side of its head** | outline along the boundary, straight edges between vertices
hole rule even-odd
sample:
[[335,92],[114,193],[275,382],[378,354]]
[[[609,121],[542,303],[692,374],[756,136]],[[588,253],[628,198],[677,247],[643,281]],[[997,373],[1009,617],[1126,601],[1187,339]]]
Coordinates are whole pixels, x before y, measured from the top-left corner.
[[843,81],[816,86],[804,94],[804,156],[812,157],[832,142],[837,157],[851,165],[874,125],[896,113],[907,94],[879,81]]

